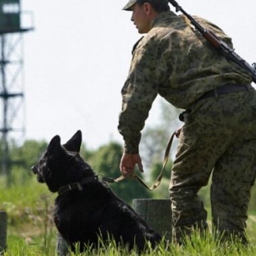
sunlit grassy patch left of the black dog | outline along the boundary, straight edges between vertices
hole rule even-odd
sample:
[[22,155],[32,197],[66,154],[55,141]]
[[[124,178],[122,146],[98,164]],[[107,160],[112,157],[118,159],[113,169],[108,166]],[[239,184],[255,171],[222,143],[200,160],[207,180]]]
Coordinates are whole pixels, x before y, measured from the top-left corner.
[[5,179],[0,177],[0,210],[8,214],[7,255],[54,255],[55,195],[36,177],[24,175],[20,182],[21,172],[20,168],[13,170],[13,182],[5,189]]

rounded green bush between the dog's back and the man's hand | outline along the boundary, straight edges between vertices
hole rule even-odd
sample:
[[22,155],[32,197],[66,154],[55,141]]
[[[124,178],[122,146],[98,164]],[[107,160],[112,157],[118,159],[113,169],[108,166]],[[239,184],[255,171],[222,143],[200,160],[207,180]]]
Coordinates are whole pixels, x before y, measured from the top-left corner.
[[[96,173],[102,174],[104,177],[117,178],[121,175],[119,163],[122,154],[122,146],[117,142],[110,142],[96,150],[88,161]],[[133,179],[126,179],[125,181],[112,184],[110,187],[118,197],[129,203],[135,198],[150,197],[150,193]]]

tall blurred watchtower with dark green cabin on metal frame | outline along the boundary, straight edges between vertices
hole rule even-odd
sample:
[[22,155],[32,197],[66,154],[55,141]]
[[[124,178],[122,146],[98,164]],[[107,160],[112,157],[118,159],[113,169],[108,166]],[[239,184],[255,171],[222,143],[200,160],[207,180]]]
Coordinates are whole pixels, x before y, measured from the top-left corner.
[[[10,178],[8,135],[25,131],[23,33],[33,29],[33,16],[20,0],[0,0],[1,172]],[[9,180],[9,179],[7,179]]]

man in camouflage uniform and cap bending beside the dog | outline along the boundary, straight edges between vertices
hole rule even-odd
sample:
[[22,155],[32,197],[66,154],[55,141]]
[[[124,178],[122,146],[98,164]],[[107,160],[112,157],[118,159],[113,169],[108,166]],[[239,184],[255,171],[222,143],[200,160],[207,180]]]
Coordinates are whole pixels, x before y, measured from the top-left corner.
[[[251,75],[231,63],[193,30],[166,0],[130,0],[123,8],[146,34],[133,47],[122,89],[119,132],[125,141],[120,169],[124,176],[143,171],[141,130],[158,94],[185,109],[180,145],[172,167],[173,240],[193,228],[207,229],[207,212],[197,195],[212,174],[214,228],[223,238],[247,243],[247,208],[256,176],[256,92]],[[218,26],[195,18],[232,47]]]

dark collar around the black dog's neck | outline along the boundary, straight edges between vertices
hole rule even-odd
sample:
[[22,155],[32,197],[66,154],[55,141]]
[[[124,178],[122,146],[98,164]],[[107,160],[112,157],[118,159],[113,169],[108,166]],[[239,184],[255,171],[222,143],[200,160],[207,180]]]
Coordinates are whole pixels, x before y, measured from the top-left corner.
[[91,177],[83,178],[82,181],[79,183],[69,183],[67,185],[59,187],[58,194],[63,195],[71,190],[78,189],[79,191],[83,190],[83,185],[86,185],[88,183],[92,182],[108,182],[108,183],[114,183],[115,179],[108,178],[108,177],[102,177],[101,175],[94,175]]

